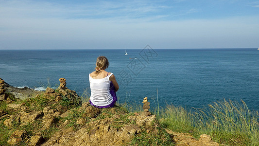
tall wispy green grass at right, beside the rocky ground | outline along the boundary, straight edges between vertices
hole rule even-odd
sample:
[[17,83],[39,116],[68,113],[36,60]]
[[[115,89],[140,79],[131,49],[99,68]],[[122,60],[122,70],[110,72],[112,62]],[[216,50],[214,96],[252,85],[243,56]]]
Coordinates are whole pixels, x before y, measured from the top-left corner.
[[161,110],[159,120],[178,132],[193,132],[198,138],[208,134],[212,140],[230,146],[259,146],[259,114],[242,101],[219,101],[205,109],[188,111],[173,105]]

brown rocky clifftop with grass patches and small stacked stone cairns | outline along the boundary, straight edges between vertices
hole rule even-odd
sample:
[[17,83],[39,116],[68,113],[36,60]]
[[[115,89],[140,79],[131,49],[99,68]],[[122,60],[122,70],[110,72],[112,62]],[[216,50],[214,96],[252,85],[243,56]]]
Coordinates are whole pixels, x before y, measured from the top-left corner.
[[142,112],[82,103],[64,78],[59,88],[45,92],[17,89],[0,79],[0,97],[0,146],[189,146],[192,141],[193,146],[218,146],[206,135],[183,141],[179,133],[166,132],[151,115],[147,98]]

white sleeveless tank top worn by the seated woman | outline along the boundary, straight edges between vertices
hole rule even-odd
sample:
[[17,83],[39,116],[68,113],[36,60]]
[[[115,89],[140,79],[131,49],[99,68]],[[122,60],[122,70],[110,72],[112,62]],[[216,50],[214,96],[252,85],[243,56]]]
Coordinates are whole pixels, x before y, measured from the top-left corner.
[[94,79],[89,74],[89,82],[90,82],[90,89],[91,89],[91,102],[96,106],[107,106],[112,103],[113,97],[110,94],[110,76],[101,78],[101,79]]

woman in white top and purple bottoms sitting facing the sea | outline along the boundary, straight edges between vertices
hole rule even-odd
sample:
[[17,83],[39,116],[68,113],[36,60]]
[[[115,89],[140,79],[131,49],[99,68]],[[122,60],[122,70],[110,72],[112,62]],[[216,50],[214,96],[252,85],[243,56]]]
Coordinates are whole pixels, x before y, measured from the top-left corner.
[[113,73],[105,71],[108,67],[108,59],[99,56],[96,60],[96,71],[89,73],[91,89],[89,102],[97,108],[111,108],[117,101],[116,91],[119,90],[119,85]]

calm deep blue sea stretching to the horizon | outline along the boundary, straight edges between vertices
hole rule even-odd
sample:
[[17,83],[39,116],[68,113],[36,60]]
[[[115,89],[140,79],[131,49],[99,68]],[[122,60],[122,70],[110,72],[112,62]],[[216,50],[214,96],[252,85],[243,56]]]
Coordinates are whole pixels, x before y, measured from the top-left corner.
[[[125,55],[127,51],[128,55]],[[151,107],[173,104],[206,108],[232,100],[259,110],[259,51],[232,49],[100,49],[100,50],[0,50],[0,77],[18,87],[57,88],[59,78],[83,96],[90,94],[88,74],[96,58],[109,60],[120,103]]]

